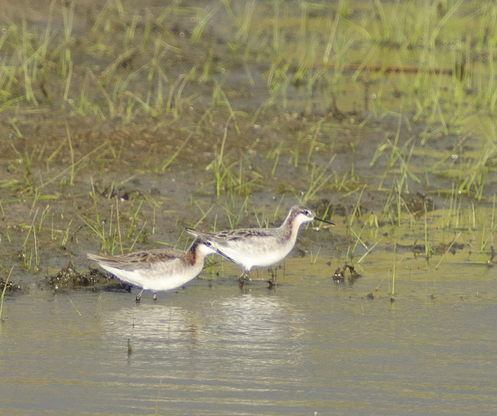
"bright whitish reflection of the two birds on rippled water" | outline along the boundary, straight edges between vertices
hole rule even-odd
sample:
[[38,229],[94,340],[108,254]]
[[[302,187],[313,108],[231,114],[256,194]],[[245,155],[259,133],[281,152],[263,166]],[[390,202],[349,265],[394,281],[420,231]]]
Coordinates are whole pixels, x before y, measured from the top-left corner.
[[120,346],[130,338],[133,362],[153,353],[163,361],[158,368],[168,367],[167,374],[171,366],[184,371],[193,354],[189,372],[209,378],[221,369],[227,378],[236,379],[242,369],[270,377],[271,366],[301,361],[303,317],[278,297],[245,294],[182,303],[119,309],[103,320],[106,339]]

